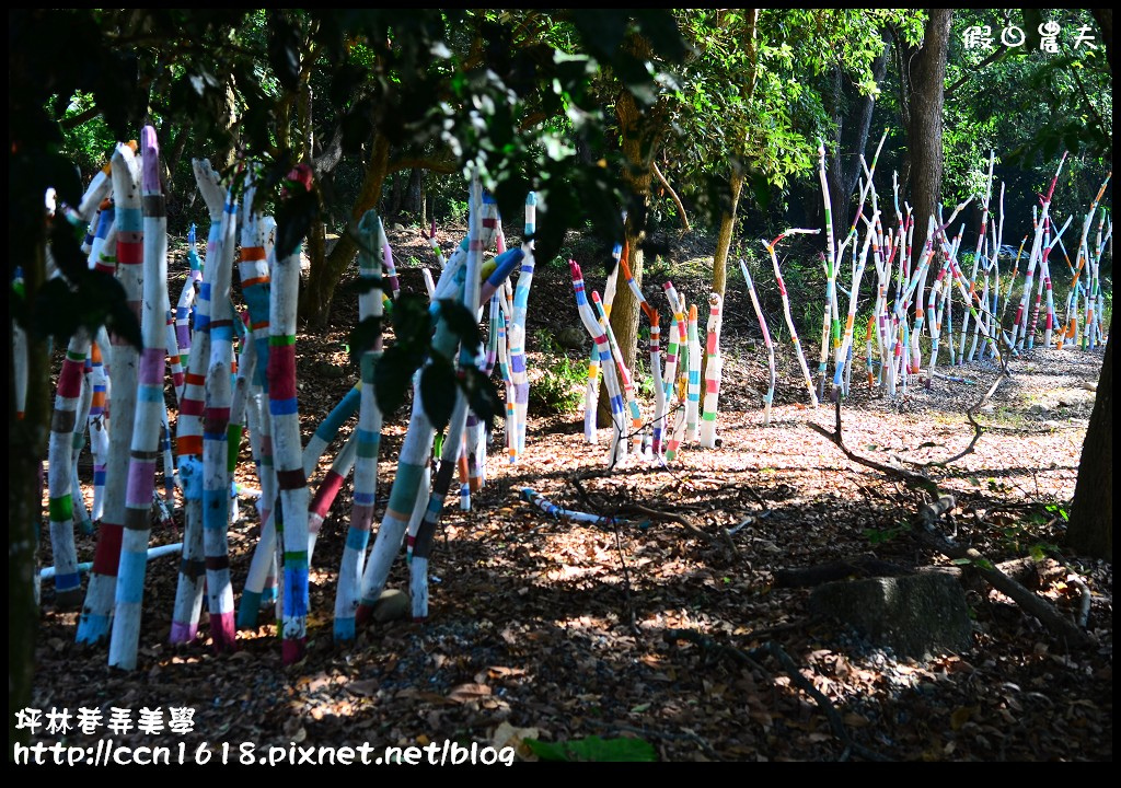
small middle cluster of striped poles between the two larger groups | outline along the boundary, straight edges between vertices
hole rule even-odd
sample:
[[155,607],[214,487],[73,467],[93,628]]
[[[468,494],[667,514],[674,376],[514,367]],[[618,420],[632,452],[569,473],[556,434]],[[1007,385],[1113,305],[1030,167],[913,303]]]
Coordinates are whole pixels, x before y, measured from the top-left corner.
[[[591,300],[589,299],[580,265],[575,260],[568,261],[576,307],[584,328],[592,339],[592,358],[589,361],[584,398],[585,442],[589,444],[599,442],[596,410],[599,380],[602,377],[611,412],[611,437],[606,453],[609,466],[614,467],[628,456],[643,457],[647,462],[656,464],[673,462],[686,439],[700,443],[706,448],[715,447],[722,378],[720,355],[722,297],[716,293],[708,297],[708,322],[705,344],[702,347],[696,305],[686,308],[674,284],[665,282],[664,291],[673,323],[668,332],[665,364],[663,364],[659,312],[646,299],[636,281],[627,259],[627,250],[617,247],[612,257],[617,265],[608,275],[603,299],[595,290],[592,290]],[[654,412],[648,420],[642,418],[633,376],[627,367],[609,319],[610,299],[613,298],[620,271],[650,324],[649,358],[654,383]],[[703,407],[702,353],[705,354]]]

